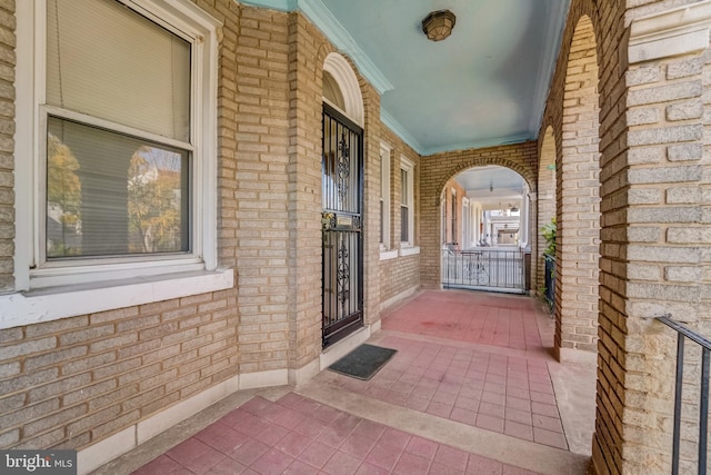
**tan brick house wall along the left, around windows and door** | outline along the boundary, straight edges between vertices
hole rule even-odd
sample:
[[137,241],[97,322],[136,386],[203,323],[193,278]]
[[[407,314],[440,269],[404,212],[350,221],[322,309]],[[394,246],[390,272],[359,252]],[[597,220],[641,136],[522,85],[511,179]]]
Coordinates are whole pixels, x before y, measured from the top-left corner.
[[[1,330],[0,447],[83,448],[232,376],[299,369],[321,353],[321,75],[333,47],[300,13],[232,0],[196,3],[223,23],[218,253],[220,265],[234,269],[236,287]],[[2,8],[12,11],[12,3],[0,2]],[[0,21],[14,28],[12,17],[0,14]],[[8,38],[0,58],[8,66],[0,81],[7,82]],[[364,314],[374,323],[382,299],[419,285],[419,257],[393,263],[392,294],[381,296],[380,98],[359,81],[365,112]],[[9,85],[0,93],[8,100],[0,112],[11,118]],[[390,141],[418,160],[392,135]],[[11,141],[2,144],[12,150]],[[2,159],[0,167],[11,170],[12,161]],[[0,175],[0,259],[10,261],[13,250],[1,239],[13,237],[12,194],[2,195],[11,186]],[[397,187],[393,194],[399,202]]]

